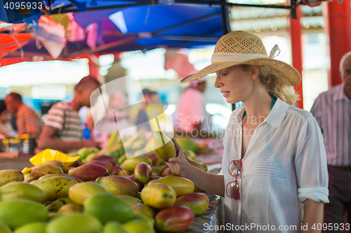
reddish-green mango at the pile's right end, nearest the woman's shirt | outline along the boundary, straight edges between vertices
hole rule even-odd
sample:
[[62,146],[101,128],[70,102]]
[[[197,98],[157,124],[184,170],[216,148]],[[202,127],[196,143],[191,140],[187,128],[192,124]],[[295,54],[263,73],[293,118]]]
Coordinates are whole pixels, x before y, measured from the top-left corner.
[[198,216],[206,211],[209,203],[210,199],[207,195],[202,192],[193,192],[178,197],[174,206],[186,206],[194,212],[195,216]]

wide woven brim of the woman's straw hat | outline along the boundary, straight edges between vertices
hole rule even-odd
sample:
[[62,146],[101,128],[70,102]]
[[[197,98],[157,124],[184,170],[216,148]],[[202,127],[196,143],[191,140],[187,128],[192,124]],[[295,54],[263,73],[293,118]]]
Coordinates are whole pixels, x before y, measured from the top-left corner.
[[281,76],[286,78],[286,80],[288,80],[292,86],[298,85],[298,83],[300,83],[301,81],[300,73],[298,73],[298,71],[295,68],[293,68],[293,66],[272,58],[256,58],[256,59],[249,59],[244,62],[213,63],[209,66],[206,66],[204,69],[201,69],[201,71],[198,71],[197,73],[194,73],[190,76],[183,78],[182,80],[180,80],[180,83],[187,83],[187,82],[190,82],[191,80],[195,80],[197,78],[202,78],[204,76],[207,76],[210,73],[216,73],[220,70],[227,69],[231,66],[237,66],[239,64],[249,64],[253,66],[270,66],[277,73],[279,73]]

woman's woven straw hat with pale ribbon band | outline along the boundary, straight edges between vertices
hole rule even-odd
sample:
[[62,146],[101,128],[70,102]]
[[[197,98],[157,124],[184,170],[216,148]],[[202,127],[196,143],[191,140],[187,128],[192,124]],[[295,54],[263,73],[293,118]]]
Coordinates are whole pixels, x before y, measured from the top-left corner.
[[209,73],[216,73],[230,66],[249,64],[270,66],[286,78],[292,86],[298,85],[301,81],[300,73],[293,66],[273,59],[273,57],[279,55],[279,52],[278,45],[275,45],[270,52],[270,57],[268,57],[265,45],[263,45],[258,36],[246,31],[232,31],[218,40],[213,51],[211,65],[191,76],[183,78],[180,83],[187,83],[191,80],[202,78]]

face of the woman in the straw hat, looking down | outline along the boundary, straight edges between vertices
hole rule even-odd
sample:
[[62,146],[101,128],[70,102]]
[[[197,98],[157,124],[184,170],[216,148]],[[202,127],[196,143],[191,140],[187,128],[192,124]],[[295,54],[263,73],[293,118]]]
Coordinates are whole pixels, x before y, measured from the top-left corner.
[[252,89],[251,69],[244,71],[241,66],[232,66],[216,74],[215,87],[220,88],[227,103],[234,104],[249,97]]

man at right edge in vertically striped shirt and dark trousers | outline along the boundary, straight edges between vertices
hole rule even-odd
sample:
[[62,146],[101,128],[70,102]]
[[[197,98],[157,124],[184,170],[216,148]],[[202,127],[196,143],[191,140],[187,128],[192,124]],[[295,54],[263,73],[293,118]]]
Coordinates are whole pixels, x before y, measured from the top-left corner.
[[341,58],[339,73],[343,83],[319,94],[311,113],[322,129],[328,160],[330,202],[324,204],[324,223],[341,227],[346,210],[351,224],[351,52]]

